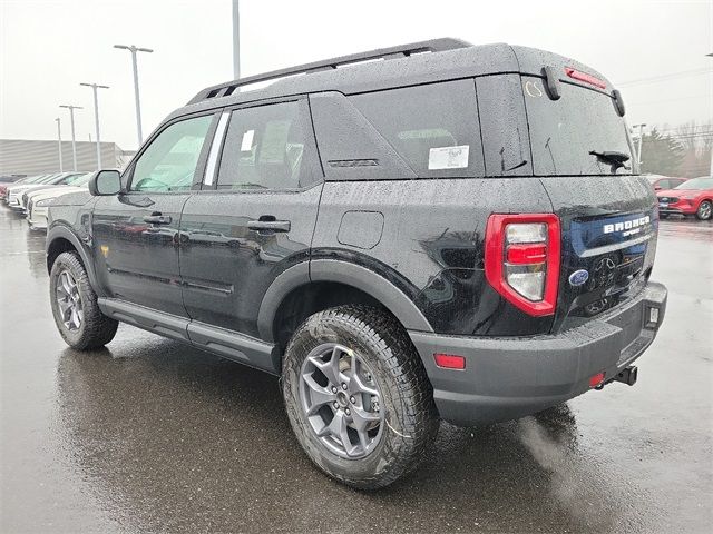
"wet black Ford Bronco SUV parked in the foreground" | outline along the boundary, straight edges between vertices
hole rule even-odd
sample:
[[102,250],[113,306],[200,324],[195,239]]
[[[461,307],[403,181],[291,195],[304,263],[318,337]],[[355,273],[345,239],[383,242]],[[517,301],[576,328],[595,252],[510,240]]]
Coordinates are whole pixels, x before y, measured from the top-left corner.
[[51,206],[57,326],[90,349],[125,322],[279,375],[310,458],[384,486],[439,417],[635,382],[666,289],[623,116],[577,61],[455,39],[207,88]]

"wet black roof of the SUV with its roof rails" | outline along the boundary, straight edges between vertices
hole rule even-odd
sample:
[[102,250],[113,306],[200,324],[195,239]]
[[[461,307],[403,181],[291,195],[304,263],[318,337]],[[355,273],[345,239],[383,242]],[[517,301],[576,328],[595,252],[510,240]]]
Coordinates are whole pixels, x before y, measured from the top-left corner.
[[[545,66],[569,66],[604,79],[597,71],[551,52],[507,43],[473,46],[459,39],[442,38],[315,61],[212,86],[199,91],[168,118],[320,91],[353,95],[504,72],[541,76]],[[272,80],[276,81],[264,88],[245,87]]]

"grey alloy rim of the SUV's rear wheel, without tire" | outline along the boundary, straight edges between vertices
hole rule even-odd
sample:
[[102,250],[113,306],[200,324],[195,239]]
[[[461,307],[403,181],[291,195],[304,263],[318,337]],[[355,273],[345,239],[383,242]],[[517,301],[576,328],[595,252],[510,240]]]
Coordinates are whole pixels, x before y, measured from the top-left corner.
[[312,429],[334,454],[361,458],[379,443],[381,394],[354,350],[333,343],[315,347],[302,364],[300,398]]

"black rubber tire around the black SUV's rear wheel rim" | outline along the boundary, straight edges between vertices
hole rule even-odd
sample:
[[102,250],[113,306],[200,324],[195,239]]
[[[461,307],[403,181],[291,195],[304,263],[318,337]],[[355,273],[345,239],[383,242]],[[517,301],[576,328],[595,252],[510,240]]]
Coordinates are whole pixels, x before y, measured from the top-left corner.
[[[380,439],[356,459],[324,445],[300,397],[303,363],[325,344],[356,353],[381,393]],[[374,307],[340,306],[309,317],[287,345],[282,376],[287,416],[302,448],[320,469],[355,488],[378,490],[416,468],[438,432],[433,390],[416,348],[395,318]]]

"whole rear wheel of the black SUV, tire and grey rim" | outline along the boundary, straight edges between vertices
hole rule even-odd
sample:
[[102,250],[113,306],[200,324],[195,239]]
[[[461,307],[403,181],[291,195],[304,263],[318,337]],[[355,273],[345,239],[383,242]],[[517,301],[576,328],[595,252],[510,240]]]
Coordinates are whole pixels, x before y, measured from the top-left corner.
[[360,490],[413,469],[438,431],[433,392],[403,327],[368,306],[309,317],[285,352],[283,394],[305,453]]

